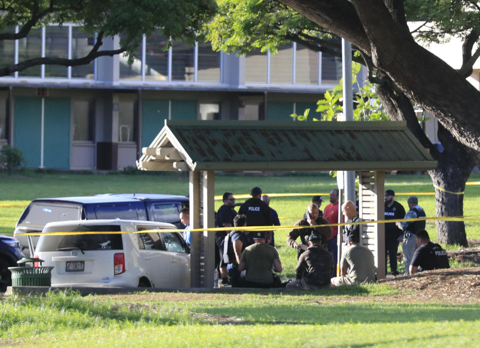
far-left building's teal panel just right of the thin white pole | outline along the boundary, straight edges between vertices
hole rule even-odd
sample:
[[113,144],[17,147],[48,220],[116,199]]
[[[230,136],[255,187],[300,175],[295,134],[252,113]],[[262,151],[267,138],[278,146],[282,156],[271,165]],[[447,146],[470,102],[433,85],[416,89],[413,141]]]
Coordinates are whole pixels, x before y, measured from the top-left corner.
[[70,168],[70,98],[45,98],[43,166]]

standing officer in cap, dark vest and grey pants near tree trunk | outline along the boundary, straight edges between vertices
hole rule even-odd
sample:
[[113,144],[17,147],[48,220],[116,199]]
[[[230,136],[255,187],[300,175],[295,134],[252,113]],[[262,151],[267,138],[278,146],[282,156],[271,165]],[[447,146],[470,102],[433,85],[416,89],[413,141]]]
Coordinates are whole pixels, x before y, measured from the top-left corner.
[[401,223],[403,229],[403,257],[405,258],[405,276],[409,275],[411,258],[416,249],[416,233],[425,229],[425,211],[418,205],[418,198],[408,197],[407,201],[410,210],[405,214],[405,219],[423,219],[418,221],[404,221]]

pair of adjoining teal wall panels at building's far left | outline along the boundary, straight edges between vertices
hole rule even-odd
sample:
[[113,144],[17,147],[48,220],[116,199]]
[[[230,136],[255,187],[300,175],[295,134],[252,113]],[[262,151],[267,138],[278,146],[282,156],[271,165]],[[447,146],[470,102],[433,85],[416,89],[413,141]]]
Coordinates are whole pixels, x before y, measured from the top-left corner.
[[[25,157],[26,166],[40,166],[41,98],[15,97],[13,146]],[[70,99],[45,98],[43,166],[70,167]]]

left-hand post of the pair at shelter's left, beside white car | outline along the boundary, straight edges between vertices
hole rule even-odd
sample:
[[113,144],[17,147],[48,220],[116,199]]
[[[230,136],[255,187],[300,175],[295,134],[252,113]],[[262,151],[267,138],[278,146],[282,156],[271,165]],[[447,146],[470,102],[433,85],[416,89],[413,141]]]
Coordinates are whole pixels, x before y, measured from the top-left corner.
[[[189,173],[189,207],[190,207],[190,227],[200,228],[200,175],[198,172]],[[190,287],[199,288],[201,276],[201,238],[200,233],[193,232],[190,235]]]

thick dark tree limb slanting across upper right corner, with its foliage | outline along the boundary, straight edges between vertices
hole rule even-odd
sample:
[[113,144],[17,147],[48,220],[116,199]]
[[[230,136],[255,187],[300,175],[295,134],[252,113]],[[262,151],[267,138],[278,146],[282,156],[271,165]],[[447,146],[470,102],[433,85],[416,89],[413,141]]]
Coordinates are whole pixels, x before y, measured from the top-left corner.
[[[415,41],[405,16],[406,9],[414,6],[413,0],[279,1],[318,26],[349,40],[371,58],[370,68],[384,73],[410,99],[432,114],[455,139],[473,149],[478,158],[480,124],[476,120],[480,110],[480,91],[465,79],[480,54],[477,48],[480,8],[476,1],[420,0],[423,9],[430,6],[431,10],[415,17],[425,18],[423,31],[429,31],[431,35],[436,29],[437,34],[468,39],[463,45],[460,70],[453,69]],[[445,18],[447,11],[450,11],[451,25],[439,15]],[[435,18],[444,23],[443,26],[432,25],[428,29],[427,21]],[[421,34],[421,38],[427,37],[428,34]]]

